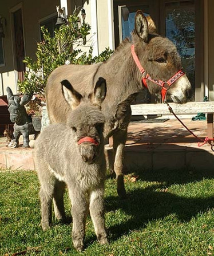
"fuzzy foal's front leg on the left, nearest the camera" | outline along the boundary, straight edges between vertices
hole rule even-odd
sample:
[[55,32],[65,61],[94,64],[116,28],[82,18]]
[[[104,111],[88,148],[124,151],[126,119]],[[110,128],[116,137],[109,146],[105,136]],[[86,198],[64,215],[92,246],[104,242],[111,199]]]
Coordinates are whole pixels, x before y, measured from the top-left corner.
[[72,239],[76,250],[82,251],[84,248],[85,223],[88,215],[89,202],[86,195],[81,190],[69,188],[69,196],[72,201],[73,230]]

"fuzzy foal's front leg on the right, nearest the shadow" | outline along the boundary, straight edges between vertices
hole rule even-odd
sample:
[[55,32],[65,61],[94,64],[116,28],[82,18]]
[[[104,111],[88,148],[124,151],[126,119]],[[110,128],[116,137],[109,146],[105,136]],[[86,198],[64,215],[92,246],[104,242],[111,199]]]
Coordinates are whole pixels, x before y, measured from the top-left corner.
[[98,241],[101,245],[108,243],[105,228],[104,186],[91,192],[89,211]]

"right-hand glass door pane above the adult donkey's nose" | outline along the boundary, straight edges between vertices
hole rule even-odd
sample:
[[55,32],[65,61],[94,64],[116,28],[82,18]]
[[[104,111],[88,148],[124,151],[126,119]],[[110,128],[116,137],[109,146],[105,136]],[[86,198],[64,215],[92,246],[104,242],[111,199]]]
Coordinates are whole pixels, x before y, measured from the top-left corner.
[[165,36],[177,47],[183,68],[195,92],[195,3],[165,3]]

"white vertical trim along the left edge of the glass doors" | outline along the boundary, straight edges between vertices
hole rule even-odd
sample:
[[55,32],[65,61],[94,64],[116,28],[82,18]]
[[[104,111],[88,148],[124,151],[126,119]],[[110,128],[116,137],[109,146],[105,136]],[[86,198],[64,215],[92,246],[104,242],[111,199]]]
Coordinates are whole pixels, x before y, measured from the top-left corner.
[[114,18],[113,18],[113,0],[108,0],[108,23],[109,23],[109,48],[115,49],[114,45]]

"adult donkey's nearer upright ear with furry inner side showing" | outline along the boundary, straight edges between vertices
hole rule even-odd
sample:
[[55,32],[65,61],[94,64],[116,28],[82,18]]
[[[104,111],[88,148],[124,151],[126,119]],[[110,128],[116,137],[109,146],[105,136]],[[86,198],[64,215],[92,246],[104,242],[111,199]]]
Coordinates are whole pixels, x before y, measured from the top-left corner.
[[134,27],[135,27],[137,36],[140,37],[145,42],[147,42],[148,34],[149,34],[148,22],[144,13],[141,10],[138,10],[135,15]]

